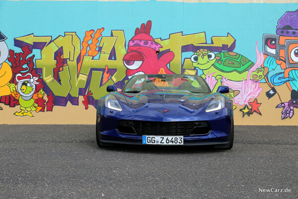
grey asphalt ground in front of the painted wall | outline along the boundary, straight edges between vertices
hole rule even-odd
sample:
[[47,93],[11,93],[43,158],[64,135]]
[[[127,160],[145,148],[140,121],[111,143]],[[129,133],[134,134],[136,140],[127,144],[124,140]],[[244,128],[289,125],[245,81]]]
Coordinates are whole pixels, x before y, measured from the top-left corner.
[[298,127],[235,126],[219,150],[98,148],[95,125],[0,125],[0,198],[297,199]]

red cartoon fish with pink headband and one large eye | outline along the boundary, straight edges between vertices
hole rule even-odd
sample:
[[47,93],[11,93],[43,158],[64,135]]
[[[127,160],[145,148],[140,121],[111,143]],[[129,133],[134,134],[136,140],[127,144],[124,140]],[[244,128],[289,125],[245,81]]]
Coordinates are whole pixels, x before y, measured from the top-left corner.
[[128,53],[124,56],[123,63],[127,67],[126,75],[129,78],[133,75],[158,74],[160,71],[173,74],[167,64],[174,59],[174,53],[169,51],[158,58],[159,48],[162,46],[154,41],[150,30],[149,20],[146,26],[143,23],[141,29],[136,28],[135,36],[128,42]]

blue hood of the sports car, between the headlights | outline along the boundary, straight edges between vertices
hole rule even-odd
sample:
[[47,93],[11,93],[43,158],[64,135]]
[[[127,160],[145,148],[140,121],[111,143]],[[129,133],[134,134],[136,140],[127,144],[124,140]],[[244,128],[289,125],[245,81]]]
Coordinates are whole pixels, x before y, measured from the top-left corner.
[[150,91],[138,94],[115,92],[110,95],[115,96],[123,107],[123,111],[119,112],[121,117],[173,121],[182,117],[185,120],[191,119],[190,116],[198,115],[200,111],[205,112],[204,106],[219,94]]

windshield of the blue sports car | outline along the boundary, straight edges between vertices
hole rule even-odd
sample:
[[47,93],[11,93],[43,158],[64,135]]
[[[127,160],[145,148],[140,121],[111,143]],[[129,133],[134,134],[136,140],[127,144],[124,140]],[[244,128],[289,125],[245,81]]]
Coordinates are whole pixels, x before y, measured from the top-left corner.
[[207,83],[200,76],[178,74],[136,75],[122,90],[125,93],[142,91],[210,93]]

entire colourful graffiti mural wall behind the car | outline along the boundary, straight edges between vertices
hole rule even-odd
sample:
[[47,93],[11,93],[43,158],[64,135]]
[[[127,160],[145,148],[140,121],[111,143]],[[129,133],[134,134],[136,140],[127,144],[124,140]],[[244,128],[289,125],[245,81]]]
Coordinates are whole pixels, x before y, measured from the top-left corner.
[[2,0],[0,123],[93,124],[108,85],[192,74],[236,125],[298,125],[298,3],[266,2]]

